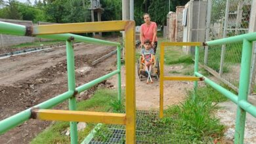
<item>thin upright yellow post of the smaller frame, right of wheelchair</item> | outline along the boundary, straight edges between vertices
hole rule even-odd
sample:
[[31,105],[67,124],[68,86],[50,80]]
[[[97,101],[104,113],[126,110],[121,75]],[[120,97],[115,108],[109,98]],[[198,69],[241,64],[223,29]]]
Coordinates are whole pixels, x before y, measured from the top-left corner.
[[164,65],[164,45],[160,46],[160,118],[163,117],[163,65]]

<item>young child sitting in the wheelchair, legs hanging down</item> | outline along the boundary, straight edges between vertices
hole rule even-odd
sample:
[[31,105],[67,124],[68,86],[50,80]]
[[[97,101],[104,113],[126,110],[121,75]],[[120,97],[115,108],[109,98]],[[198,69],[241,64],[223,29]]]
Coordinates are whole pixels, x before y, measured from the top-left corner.
[[[152,69],[152,62],[153,62],[153,55],[154,55],[154,50],[152,48],[150,40],[144,41],[144,48],[141,49],[141,56],[142,56],[142,64],[144,65],[144,70],[146,73],[148,73],[148,79],[150,79],[151,82],[152,79],[150,77],[150,71]],[[148,83],[148,80],[147,82]]]

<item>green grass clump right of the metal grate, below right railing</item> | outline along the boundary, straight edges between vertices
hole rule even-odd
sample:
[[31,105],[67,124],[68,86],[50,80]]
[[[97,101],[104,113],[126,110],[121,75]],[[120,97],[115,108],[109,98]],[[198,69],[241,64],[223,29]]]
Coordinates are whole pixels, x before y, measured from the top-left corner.
[[165,118],[162,121],[175,125],[176,134],[190,135],[190,141],[194,143],[220,139],[224,126],[212,113],[217,109],[216,104],[226,101],[226,98],[210,86],[199,88],[196,99],[193,100],[192,96],[193,93],[189,92],[188,98],[181,105],[174,105],[165,110]]

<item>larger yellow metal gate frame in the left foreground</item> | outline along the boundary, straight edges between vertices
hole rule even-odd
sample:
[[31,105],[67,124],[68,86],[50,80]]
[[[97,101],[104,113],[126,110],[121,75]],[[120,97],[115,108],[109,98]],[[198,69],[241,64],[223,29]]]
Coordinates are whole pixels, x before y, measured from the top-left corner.
[[[106,31],[125,31],[125,115],[114,113],[38,110],[41,119],[68,120],[85,122],[102,122],[108,124],[126,125],[126,143],[135,143],[135,22],[134,21],[110,21],[110,22],[86,22],[75,24],[54,24],[45,26],[33,26],[32,35],[49,35],[58,33],[92,33]],[[82,115],[82,116],[81,116]],[[74,116],[74,117],[73,117]]]

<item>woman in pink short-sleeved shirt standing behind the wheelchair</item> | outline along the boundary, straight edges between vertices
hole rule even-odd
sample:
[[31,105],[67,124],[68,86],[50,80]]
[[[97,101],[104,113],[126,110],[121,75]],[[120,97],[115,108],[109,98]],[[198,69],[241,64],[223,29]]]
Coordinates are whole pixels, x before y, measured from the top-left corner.
[[150,21],[150,15],[149,14],[143,14],[144,24],[140,26],[140,46],[144,45],[144,41],[146,39],[149,39],[152,41],[152,46],[154,49],[154,53],[156,54],[156,47],[158,46],[158,37],[156,37],[157,33],[157,26],[156,22]]

